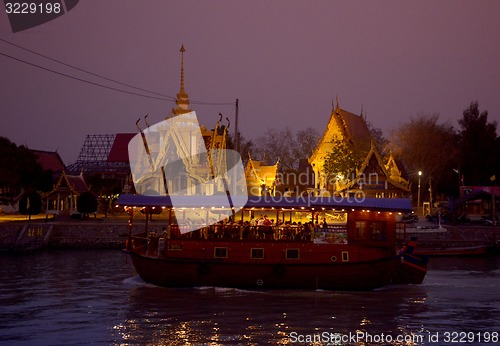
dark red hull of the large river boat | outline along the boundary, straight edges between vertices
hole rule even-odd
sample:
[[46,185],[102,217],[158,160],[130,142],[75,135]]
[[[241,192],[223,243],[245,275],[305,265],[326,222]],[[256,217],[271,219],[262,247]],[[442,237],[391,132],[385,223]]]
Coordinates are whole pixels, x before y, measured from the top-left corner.
[[[400,261],[387,248],[350,245],[196,241],[172,245],[183,250],[160,255],[147,255],[141,248],[130,252],[145,282],[163,287],[371,290],[391,283]],[[210,256],[215,247],[228,248],[227,258]],[[266,257],[249,259],[252,247],[263,248]],[[284,258],[287,248],[299,248],[300,258]],[[193,255],[196,251],[198,256]]]

